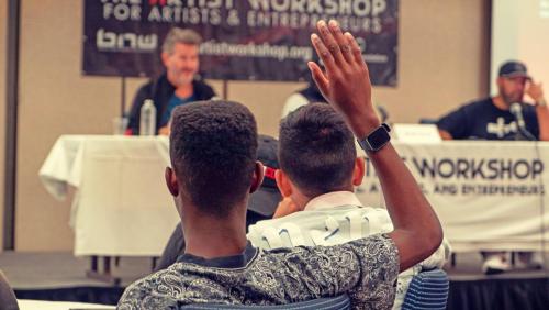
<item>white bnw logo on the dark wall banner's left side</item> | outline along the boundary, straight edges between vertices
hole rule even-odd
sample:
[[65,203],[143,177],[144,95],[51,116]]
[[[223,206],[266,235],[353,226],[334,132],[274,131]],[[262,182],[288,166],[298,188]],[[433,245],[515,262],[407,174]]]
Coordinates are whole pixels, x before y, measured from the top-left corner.
[[148,53],[158,46],[156,34],[135,34],[131,32],[115,33],[99,29],[96,35],[96,44],[99,51],[108,52],[132,52]]

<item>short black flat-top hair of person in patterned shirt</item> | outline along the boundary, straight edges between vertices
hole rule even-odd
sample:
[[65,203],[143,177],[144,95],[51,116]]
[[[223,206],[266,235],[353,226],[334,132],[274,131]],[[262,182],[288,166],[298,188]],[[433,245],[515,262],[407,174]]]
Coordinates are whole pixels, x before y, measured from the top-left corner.
[[245,106],[224,100],[176,108],[170,157],[191,201],[210,215],[225,217],[249,190],[257,153],[257,124]]

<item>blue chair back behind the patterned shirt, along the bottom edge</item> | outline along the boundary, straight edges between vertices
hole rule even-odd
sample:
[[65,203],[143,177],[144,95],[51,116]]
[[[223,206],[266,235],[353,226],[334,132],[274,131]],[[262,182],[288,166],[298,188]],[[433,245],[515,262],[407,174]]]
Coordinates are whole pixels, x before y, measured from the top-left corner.
[[344,295],[340,295],[338,297],[326,297],[326,298],[318,298],[318,299],[313,299],[313,300],[307,300],[307,301],[300,301],[300,302],[294,302],[294,303],[277,305],[277,306],[193,303],[193,305],[183,306],[179,309],[201,309],[201,310],[213,310],[213,309],[347,310],[347,309],[350,309],[350,299],[349,299],[349,296],[344,294]]

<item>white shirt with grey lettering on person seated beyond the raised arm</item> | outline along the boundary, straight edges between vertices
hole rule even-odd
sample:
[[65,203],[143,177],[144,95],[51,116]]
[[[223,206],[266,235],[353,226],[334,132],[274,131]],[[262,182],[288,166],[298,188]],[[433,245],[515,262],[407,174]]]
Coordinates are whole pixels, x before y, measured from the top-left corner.
[[[351,191],[332,191],[311,199],[303,211],[259,221],[250,225],[247,235],[251,245],[271,250],[298,245],[335,245],[371,234],[393,231],[386,209],[362,207]],[[181,229],[179,229],[181,231]],[[399,275],[394,310],[401,309],[412,278],[422,270],[441,268],[450,255],[444,240],[427,259]]]

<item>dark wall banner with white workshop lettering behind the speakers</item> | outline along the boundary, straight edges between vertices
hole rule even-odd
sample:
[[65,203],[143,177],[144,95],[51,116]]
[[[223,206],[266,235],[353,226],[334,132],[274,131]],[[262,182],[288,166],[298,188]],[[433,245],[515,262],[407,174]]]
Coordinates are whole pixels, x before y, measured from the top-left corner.
[[85,0],[85,75],[155,76],[173,26],[202,35],[212,79],[303,80],[318,20],[359,42],[373,85],[396,86],[397,0]]

